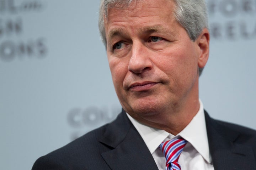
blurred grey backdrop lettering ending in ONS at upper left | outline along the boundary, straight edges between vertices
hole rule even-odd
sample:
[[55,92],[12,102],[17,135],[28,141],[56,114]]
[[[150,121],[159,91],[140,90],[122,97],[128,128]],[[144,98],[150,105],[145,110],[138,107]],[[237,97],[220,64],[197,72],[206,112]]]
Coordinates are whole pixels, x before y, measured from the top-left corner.
[[39,0],[0,0],[0,61],[46,57],[46,38],[21,38],[26,28],[21,13],[39,12],[44,7]]

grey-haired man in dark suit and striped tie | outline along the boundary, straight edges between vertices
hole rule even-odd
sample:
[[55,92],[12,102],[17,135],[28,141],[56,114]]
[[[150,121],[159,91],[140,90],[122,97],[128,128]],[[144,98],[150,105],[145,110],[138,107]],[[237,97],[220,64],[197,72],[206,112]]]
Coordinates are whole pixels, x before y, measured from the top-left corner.
[[[199,100],[207,25],[203,0],[103,0],[99,27],[123,111],[32,169],[256,169],[256,132],[210,118]],[[170,141],[182,143],[175,161]]]

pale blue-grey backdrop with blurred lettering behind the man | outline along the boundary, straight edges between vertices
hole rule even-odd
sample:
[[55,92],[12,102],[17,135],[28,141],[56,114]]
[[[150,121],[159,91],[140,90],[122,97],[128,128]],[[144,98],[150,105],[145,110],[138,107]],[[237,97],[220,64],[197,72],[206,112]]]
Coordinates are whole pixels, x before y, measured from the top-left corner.
[[[256,129],[256,0],[208,0],[209,114]],[[97,28],[100,1],[0,0],[0,169],[34,161],[121,111]]]

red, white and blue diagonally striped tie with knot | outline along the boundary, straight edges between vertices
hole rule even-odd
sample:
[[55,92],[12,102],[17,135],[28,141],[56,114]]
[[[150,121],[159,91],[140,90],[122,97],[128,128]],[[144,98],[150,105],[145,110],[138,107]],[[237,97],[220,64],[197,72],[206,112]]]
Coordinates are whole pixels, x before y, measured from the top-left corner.
[[160,144],[160,148],[165,155],[166,168],[165,170],[181,170],[180,164],[178,164],[178,158],[187,144],[187,141],[181,139],[171,139]]

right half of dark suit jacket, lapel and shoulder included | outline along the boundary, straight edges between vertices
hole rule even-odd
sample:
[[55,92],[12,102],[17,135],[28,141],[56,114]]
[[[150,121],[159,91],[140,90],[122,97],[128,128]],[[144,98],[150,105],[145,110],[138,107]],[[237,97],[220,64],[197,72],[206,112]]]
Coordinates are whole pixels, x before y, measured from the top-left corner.
[[256,169],[256,131],[205,117],[214,169]]

